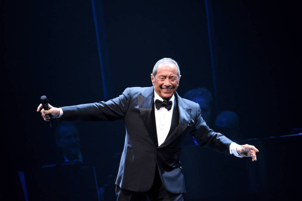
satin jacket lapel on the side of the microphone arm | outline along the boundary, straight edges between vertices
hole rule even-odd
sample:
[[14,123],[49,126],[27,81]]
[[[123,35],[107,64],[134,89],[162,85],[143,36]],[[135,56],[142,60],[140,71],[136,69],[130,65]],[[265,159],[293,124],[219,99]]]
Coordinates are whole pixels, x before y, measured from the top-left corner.
[[141,117],[145,123],[147,131],[150,138],[153,140],[154,144],[158,147],[156,128],[154,128],[155,122],[153,122],[152,107],[154,102],[154,88],[153,86],[146,89],[143,93],[138,94],[138,106],[141,113]]

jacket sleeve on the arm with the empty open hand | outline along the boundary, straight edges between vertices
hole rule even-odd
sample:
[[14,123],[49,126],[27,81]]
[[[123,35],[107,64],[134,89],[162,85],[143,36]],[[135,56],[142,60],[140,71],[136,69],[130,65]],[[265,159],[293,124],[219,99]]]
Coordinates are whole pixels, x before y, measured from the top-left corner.
[[[197,104],[197,103],[196,103]],[[196,119],[194,129],[190,132],[200,146],[206,146],[216,151],[230,154],[232,141],[221,133],[216,133],[210,129],[201,117],[201,109],[197,104]]]

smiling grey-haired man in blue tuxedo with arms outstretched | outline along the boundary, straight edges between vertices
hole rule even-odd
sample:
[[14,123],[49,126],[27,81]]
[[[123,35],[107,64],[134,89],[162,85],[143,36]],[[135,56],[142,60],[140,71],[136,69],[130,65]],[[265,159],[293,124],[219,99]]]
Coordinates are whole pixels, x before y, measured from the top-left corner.
[[181,78],[177,62],[159,60],[151,74],[151,87],[132,87],[107,102],[55,108],[44,111],[45,121],[60,118],[112,121],[124,119],[126,138],[116,176],[117,200],[183,200],[186,192],[179,161],[186,135],[207,146],[239,157],[256,160],[258,150],[251,145],[237,145],[210,130],[201,117],[197,103],[181,98],[177,87]]

